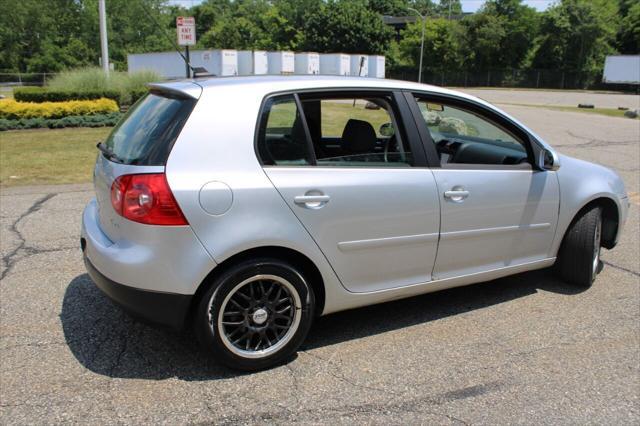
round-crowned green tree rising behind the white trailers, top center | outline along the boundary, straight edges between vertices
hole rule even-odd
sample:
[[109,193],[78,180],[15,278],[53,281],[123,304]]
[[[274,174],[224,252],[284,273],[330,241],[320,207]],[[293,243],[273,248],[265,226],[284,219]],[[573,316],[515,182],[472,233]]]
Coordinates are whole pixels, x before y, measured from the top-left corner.
[[383,53],[392,30],[361,0],[328,0],[306,15],[302,49],[318,52]]

